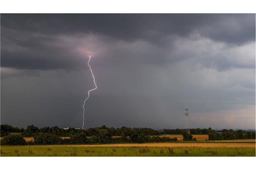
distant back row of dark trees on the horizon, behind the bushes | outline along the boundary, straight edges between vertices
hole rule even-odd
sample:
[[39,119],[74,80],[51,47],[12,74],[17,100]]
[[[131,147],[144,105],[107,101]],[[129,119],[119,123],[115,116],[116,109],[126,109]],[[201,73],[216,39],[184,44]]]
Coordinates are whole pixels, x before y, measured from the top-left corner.
[[[106,129],[111,136],[130,136],[132,133],[143,133],[144,135],[161,135],[163,133],[165,134],[182,134],[183,129],[163,129],[163,132],[159,132],[158,130],[154,130],[151,128],[128,128],[128,127],[121,127],[121,128],[108,128],[105,125],[102,127],[94,127],[94,128],[88,128],[88,129],[77,129],[77,128],[59,128],[57,126],[54,127],[43,127],[43,128],[38,128],[34,125],[30,125],[27,128],[18,128],[18,127],[13,127],[11,125],[1,125],[1,137],[7,136],[9,133],[21,133],[22,136],[24,137],[32,137],[35,134],[38,133],[51,133],[55,134],[57,136],[62,136],[62,137],[71,137],[75,133],[85,133],[86,136],[93,136],[97,135],[100,131],[100,129]],[[212,128],[190,128],[190,133],[191,134],[209,134],[209,133],[215,133],[217,132],[216,130],[212,130]],[[218,132],[235,132],[233,129],[222,129],[219,130]],[[229,134],[227,134],[229,135]]]

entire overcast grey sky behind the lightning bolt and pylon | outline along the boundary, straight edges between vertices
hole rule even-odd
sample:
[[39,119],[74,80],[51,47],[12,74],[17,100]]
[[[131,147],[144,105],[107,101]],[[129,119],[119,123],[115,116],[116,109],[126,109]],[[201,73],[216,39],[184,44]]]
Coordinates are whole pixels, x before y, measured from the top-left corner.
[[255,14],[1,14],[1,124],[255,129]]

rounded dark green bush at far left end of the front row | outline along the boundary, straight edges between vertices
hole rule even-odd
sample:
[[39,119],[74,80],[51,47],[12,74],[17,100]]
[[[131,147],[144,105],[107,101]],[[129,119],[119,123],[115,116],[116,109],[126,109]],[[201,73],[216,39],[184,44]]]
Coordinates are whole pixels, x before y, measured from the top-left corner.
[[8,134],[1,140],[2,145],[26,145],[26,140],[20,134]]

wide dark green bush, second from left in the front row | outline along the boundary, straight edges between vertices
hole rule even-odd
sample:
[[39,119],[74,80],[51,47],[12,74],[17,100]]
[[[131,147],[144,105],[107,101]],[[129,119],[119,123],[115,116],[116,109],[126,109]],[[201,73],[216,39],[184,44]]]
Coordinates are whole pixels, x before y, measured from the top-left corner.
[[34,137],[35,144],[58,144],[61,142],[60,136],[50,133],[40,133]]

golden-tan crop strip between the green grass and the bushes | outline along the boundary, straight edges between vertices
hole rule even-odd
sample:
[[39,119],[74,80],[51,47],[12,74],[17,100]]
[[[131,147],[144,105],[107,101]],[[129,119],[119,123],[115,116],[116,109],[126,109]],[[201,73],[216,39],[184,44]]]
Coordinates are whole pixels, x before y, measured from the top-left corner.
[[45,147],[59,147],[59,146],[148,146],[148,147],[255,147],[255,143],[124,143],[124,144],[95,144],[95,145],[40,145]]

